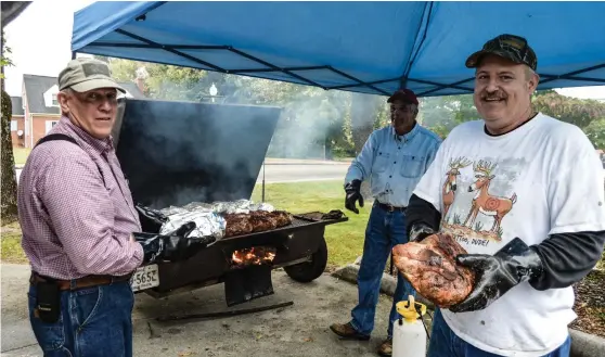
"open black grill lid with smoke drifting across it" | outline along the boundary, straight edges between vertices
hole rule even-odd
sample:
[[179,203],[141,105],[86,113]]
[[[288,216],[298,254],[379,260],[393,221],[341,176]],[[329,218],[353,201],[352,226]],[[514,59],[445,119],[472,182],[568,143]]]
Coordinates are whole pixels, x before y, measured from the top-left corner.
[[249,200],[280,114],[274,106],[126,99],[114,137],[134,202],[159,209]]

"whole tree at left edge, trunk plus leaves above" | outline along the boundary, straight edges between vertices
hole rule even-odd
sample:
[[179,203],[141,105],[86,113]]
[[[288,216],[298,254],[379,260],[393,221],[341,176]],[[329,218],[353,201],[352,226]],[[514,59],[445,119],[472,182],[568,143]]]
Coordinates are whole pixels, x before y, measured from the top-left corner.
[[1,90],[2,90],[2,119],[1,139],[0,139],[0,216],[2,224],[7,225],[18,219],[17,200],[16,200],[16,173],[15,158],[13,155],[13,141],[11,138],[11,117],[12,105],[11,97],[4,91],[4,66],[13,65],[12,61],[5,56],[11,53],[10,48],[4,42],[4,26],[15,20],[30,4],[29,1],[2,1],[2,28],[0,38],[0,59],[1,59]]

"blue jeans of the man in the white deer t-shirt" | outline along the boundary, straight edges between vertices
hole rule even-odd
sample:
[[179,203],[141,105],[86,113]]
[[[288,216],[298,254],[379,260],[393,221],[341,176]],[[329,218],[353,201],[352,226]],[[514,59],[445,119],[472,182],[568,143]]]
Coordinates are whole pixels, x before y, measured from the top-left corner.
[[[569,357],[571,348],[571,337],[561,345],[557,349],[542,357]],[[433,333],[428,343],[427,357],[500,357],[489,352],[479,349],[472,344],[463,341],[453,333],[448,323],[443,320],[441,311],[435,310],[433,316]]]

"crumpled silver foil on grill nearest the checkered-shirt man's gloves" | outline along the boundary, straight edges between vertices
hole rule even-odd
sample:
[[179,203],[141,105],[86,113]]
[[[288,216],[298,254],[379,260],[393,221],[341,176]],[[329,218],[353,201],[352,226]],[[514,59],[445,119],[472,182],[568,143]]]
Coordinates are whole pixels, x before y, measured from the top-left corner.
[[162,225],[159,234],[173,233],[182,225],[190,221],[195,222],[195,229],[186,237],[215,237],[220,239],[224,235],[226,221],[224,218],[219,216],[213,211],[193,211],[182,212],[168,216],[168,221]]

